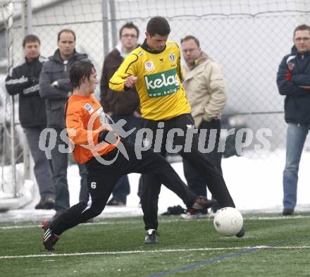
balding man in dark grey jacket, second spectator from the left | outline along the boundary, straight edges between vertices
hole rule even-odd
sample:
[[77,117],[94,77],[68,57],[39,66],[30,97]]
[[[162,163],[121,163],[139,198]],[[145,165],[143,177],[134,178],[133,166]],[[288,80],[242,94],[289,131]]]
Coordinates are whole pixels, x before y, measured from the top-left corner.
[[[54,218],[70,207],[67,180],[68,153],[61,151],[64,148],[68,149],[68,141],[63,141],[61,132],[66,128],[64,111],[68,94],[72,92],[68,79],[69,69],[78,61],[87,60],[87,54],[75,51],[75,38],[73,30],[63,29],[58,32],[58,49],[54,56],[50,56],[49,61],[44,63],[39,78],[39,93],[46,99],[47,128],[53,128],[56,131],[51,133],[51,140],[56,140],[56,145],[51,150],[51,165],[56,188]],[[66,131],[62,134],[66,135]],[[87,170],[84,164],[78,166],[81,177],[80,200],[82,200],[88,197]]]

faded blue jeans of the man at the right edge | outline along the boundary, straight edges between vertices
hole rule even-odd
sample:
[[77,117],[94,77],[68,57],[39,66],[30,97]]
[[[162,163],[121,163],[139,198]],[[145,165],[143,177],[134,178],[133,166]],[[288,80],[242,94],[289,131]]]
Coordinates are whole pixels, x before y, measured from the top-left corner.
[[299,161],[310,124],[288,123],[286,135],[286,161],[283,171],[283,208],[292,209],[297,202],[297,181]]

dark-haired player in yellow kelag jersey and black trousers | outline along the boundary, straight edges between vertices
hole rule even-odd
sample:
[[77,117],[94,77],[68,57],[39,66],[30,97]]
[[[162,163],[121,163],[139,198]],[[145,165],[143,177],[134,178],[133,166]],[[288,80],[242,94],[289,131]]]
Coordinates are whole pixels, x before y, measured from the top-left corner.
[[[199,152],[190,104],[181,84],[180,49],[178,44],[168,40],[170,31],[165,18],[151,18],[147,23],[144,43],[126,57],[110,79],[109,87],[123,92],[135,86],[140,97],[142,128],[150,129],[154,134],[151,141],[149,137],[144,138],[144,146],[150,144],[165,156],[173,140],[182,158],[187,159],[202,174],[221,207],[235,207],[221,172]],[[190,149],[185,143],[187,133],[192,133]],[[146,242],[154,238],[151,234],[157,234],[160,190],[161,183],[155,175],[143,176],[141,204],[147,230]],[[244,229],[237,234],[238,237],[243,235]]]

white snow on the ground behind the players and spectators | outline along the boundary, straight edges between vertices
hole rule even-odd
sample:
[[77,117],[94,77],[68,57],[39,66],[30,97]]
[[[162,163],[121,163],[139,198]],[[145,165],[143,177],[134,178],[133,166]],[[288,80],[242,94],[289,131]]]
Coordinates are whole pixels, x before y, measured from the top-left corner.
[[[253,158],[255,156],[255,159]],[[309,201],[309,169],[310,152],[304,152],[299,166],[299,187],[297,195],[297,211],[310,210]],[[228,189],[235,201],[237,209],[241,211],[282,211],[282,174],[285,164],[285,152],[269,152],[268,154],[253,154],[247,152],[244,156],[232,156],[223,159],[223,174]],[[185,181],[182,163],[172,164],[175,171]],[[142,215],[139,207],[140,199],[137,197],[139,175],[129,175],[130,195],[126,207],[106,207],[101,217],[111,216],[136,216]],[[70,204],[78,202],[80,191],[80,176],[76,165],[68,168],[68,183],[70,191]],[[1,201],[1,200],[0,200]],[[35,210],[35,204],[39,201],[38,192],[35,199],[23,209],[6,211],[0,214],[0,221],[40,220],[50,218],[54,211]],[[166,211],[168,207],[185,205],[182,200],[166,187],[162,186],[159,196],[159,213]]]

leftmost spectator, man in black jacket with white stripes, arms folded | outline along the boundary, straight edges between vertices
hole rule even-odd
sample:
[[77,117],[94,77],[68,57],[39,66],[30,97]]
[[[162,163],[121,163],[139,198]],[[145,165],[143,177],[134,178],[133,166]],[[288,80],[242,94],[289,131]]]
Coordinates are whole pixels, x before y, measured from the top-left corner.
[[54,209],[55,192],[51,164],[39,149],[40,133],[46,128],[44,99],[39,96],[39,75],[44,59],[40,56],[40,40],[36,35],[23,39],[25,63],[13,68],[6,77],[8,94],[19,94],[19,118],[30,152],[35,161],[34,173],[41,199],[35,209]]

